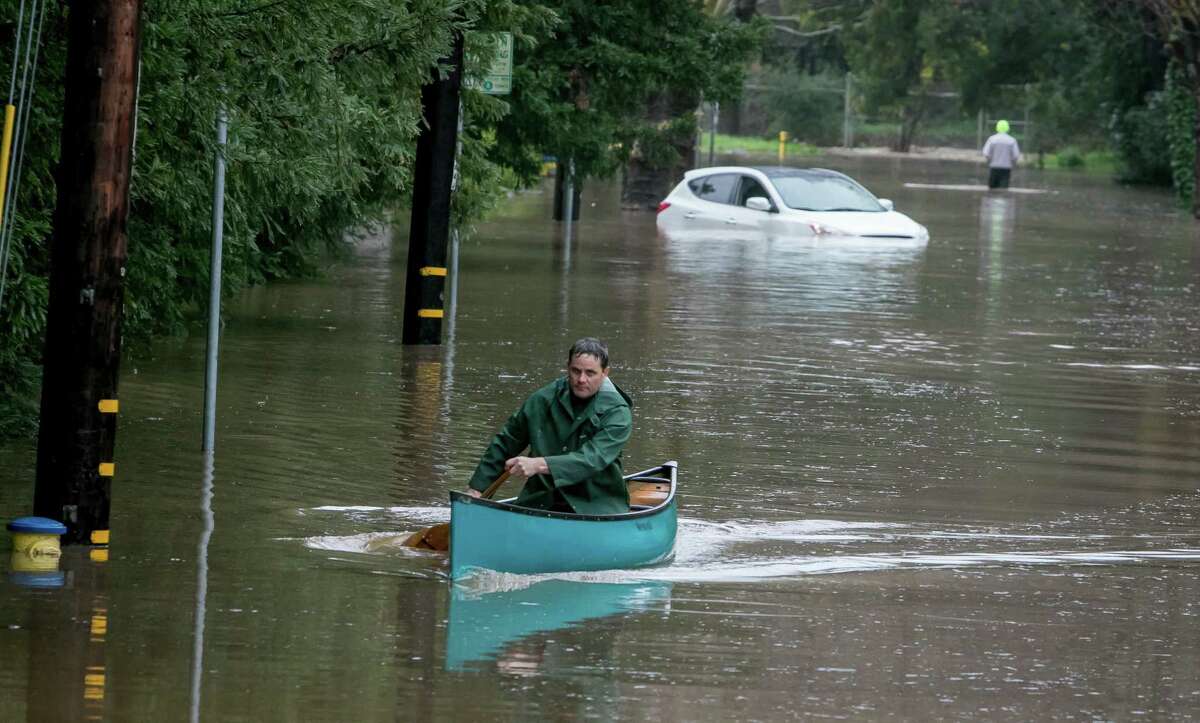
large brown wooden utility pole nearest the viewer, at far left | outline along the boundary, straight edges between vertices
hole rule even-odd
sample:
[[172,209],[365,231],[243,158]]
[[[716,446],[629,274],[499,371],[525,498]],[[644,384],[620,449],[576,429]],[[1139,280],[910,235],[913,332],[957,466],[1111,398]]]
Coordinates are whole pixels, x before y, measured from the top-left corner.
[[108,543],[140,0],[68,10],[36,514]]

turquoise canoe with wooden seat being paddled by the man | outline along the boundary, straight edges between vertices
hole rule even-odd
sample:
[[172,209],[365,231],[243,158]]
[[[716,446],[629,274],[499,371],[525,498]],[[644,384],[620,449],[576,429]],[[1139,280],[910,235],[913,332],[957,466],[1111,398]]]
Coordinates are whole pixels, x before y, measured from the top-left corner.
[[485,568],[554,573],[642,567],[671,557],[676,462],[626,474],[630,510],[584,515],[529,509],[514,500],[450,492],[450,576]]

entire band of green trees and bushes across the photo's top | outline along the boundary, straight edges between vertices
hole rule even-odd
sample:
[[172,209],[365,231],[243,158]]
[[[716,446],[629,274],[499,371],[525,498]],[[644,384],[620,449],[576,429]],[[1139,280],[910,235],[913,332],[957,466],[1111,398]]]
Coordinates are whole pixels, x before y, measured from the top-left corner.
[[[710,102],[719,150],[774,155],[787,131],[788,157],[839,145],[847,114],[856,145],[901,151],[973,147],[980,118],[1028,116],[1027,155],[1171,185],[1200,214],[1194,5],[143,0],[124,331],[182,334],[203,312],[218,108],[224,293],[319,273],[348,234],[403,216],[420,89],[456,32],[476,78],[484,34],[515,40],[512,94],[463,96],[454,214],[468,232],[546,156],[581,183],[619,174],[623,205],[654,208],[696,157]],[[7,48],[19,6],[0,0]],[[0,299],[0,436],[31,431],[38,396],[70,4],[47,7]]]

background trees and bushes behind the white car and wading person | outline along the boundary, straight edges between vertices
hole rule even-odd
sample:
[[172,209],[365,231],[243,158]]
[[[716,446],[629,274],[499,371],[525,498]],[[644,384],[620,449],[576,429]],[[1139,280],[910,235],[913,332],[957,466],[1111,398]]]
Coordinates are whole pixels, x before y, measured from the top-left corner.
[[[770,0],[774,32],[721,130],[818,147],[978,148],[1172,186],[1200,215],[1200,10],[1162,0]],[[848,94],[847,94],[848,89]],[[1028,127],[1025,123],[1028,121]]]

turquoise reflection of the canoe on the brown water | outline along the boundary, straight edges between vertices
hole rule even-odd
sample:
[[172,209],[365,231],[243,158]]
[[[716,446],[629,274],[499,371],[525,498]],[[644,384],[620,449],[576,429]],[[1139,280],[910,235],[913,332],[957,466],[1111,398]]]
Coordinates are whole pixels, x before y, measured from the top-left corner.
[[455,587],[446,628],[446,670],[498,658],[510,643],[586,620],[660,609],[670,582],[575,582],[544,580],[523,590],[470,593]]

